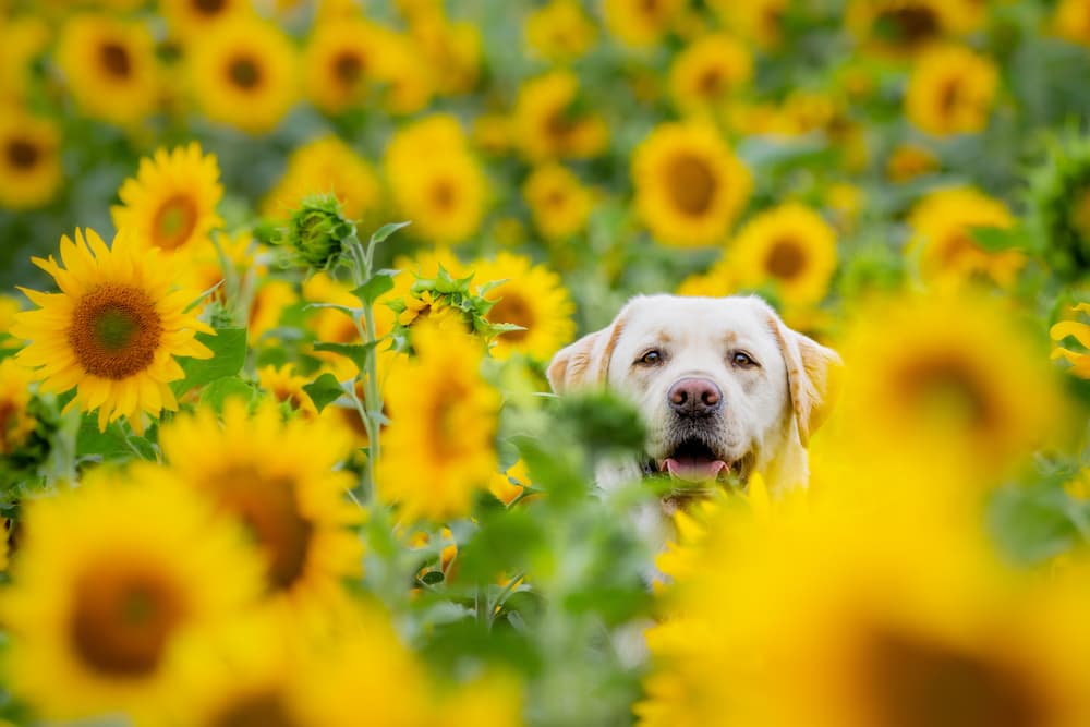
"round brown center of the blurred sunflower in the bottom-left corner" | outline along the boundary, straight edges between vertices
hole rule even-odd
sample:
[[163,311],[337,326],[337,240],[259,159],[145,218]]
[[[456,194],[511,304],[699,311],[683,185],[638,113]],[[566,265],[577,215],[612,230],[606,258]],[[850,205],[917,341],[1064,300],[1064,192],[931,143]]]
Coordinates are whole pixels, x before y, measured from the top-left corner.
[[69,621],[73,651],[110,677],[148,676],[185,618],[182,595],[159,568],[102,566],[75,584]]

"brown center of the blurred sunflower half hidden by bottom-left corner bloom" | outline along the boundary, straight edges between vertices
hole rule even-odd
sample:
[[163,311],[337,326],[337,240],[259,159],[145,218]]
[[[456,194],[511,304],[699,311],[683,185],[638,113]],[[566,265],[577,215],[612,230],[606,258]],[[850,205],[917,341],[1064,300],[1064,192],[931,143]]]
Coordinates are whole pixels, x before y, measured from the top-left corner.
[[299,511],[295,482],[263,474],[254,465],[228,469],[215,478],[213,494],[235,513],[265,552],[269,585],[288,590],[302,578],[314,524]]

